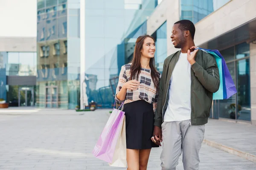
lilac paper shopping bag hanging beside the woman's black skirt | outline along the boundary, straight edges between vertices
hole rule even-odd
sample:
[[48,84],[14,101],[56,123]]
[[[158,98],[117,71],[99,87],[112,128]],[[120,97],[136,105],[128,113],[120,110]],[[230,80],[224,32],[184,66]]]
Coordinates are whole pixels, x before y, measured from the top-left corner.
[[[123,103],[120,105],[119,109],[121,107],[123,108]],[[113,109],[93,149],[93,156],[108,163],[112,163],[116,143],[125,118],[125,112],[119,109]]]

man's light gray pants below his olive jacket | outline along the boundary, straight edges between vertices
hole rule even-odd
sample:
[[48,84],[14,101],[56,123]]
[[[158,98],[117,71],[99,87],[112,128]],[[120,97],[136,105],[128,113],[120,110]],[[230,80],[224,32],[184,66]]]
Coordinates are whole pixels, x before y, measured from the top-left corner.
[[160,156],[162,170],[176,170],[182,151],[184,170],[199,170],[204,125],[189,126],[189,122],[163,122],[163,150]]

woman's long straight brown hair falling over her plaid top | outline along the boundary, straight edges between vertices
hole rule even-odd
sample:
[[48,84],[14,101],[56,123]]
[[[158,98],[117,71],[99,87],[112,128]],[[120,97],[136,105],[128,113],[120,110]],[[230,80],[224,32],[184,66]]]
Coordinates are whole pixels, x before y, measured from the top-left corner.
[[[131,63],[130,79],[137,79],[137,80],[139,79],[140,70],[141,70],[141,64],[140,64],[141,53],[140,53],[140,51],[142,50],[144,40],[147,37],[152,38],[154,40],[154,38],[151,37],[150,35],[140,36],[136,40],[136,44],[135,44],[135,48],[134,48],[134,55],[133,55],[133,58],[131,60],[132,63]],[[158,75],[157,75],[157,70],[154,67],[154,57],[150,59],[149,67],[151,69],[151,78],[153,80],[153,83],[154,83],[155,87],[157,88],[158,84],[159,84],[159,79],[158,79]]]

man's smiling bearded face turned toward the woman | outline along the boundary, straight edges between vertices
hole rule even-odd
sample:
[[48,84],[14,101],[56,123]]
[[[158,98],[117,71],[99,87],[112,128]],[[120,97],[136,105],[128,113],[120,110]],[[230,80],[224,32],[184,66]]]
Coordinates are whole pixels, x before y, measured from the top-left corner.
[[185,36],[184,36],[184,31],[181,31],[179,28],[179,24],[174,24],[172,26],[172,44],[174,45],[175,48],[182,48],[183,45],[186,42]]

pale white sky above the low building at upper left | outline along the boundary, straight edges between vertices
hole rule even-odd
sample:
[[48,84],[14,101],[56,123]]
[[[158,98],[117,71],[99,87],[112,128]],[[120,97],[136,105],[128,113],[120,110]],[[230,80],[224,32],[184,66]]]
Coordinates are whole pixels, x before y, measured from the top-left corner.
[[0,37],[36,37],[37,0],[0,0]]

